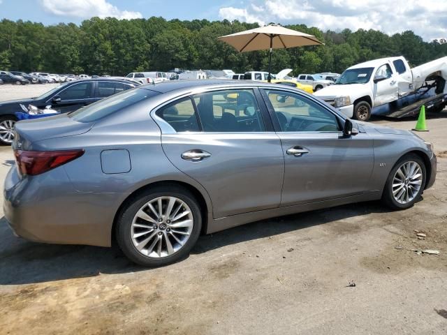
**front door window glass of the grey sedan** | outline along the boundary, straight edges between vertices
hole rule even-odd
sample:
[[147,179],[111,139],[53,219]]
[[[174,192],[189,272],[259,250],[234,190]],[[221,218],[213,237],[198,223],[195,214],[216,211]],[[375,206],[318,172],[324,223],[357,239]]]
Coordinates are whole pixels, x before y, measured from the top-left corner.
[[265,90],[281,131],[340,131],[335,114],[305,96],[287,91]]

